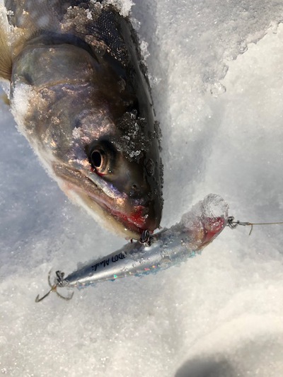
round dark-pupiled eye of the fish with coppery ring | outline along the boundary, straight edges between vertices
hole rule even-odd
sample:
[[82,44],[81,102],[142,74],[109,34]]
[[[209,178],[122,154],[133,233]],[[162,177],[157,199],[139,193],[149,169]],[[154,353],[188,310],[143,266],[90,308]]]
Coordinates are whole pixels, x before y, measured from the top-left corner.
[[88,147],[88,160],[96,173],[105,175],[111,173],[114,150],[110,143],[100,142]]

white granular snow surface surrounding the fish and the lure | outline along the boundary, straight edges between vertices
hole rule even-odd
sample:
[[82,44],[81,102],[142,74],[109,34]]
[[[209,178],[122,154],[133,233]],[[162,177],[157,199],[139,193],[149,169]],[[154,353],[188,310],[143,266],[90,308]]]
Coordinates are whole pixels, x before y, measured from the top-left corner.
[[[163,132],[162,226],[210,192],[241,221],[283,221],[283,3],[132,11]],[[71,272],[124,240],[68,202],[0,111],[3,375],[283,375],[282,226],[227,228],[180,267],[35,303],[51,267]]]

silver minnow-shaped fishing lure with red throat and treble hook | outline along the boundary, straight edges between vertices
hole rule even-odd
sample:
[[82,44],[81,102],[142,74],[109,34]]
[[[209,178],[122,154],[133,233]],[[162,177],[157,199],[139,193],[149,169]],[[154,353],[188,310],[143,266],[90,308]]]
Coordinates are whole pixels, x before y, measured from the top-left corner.
[[208,195],[184,214],[178,224],[149,236],[144,243],[128,243],[115,253],[88,263],[67,277],[57,271],[54,284],[50,282],[50,291],[42,298],[37,296],[35,301],[42,301],[58,287],[82,288],[121,277],[139,277],[179,265],[200,254],[221,233],[227,224],[228,208],[219,195]]

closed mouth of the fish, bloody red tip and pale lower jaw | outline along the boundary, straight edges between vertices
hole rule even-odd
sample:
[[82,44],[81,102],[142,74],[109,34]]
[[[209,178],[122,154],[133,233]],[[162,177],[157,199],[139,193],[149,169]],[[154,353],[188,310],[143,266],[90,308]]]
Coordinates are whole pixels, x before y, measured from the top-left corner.
[[154,200],[131,199],[88,171],[58,163],[54,163],[53,169],[65,194],[111,231],[139,239],[144,230],[153,233],[158,228],[161,219],[155,215]]

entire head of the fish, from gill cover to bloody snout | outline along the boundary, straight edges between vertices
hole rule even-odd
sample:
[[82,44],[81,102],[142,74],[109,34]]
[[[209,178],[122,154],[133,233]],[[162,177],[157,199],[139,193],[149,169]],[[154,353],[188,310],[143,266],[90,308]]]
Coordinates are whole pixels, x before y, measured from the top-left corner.
[[158,127],[152,109],[141,112],[111,69],[97,65],[78,47],[28,45],[13,64],[11,108],[73,202],[103,226],[139,238],[161,221]]

